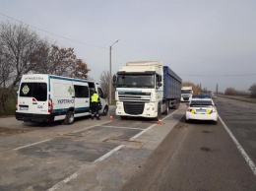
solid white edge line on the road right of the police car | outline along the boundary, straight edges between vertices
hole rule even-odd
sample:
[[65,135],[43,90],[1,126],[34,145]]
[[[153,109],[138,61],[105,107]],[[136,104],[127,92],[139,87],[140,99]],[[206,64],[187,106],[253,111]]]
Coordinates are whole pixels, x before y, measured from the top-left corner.
[[239,142],[235,139],[235,137],[233,136],[233,134],[231,133],[231,131],[228,129],[228,127],[224,124],[223,119],[221,118],[221,116],[219,115],[220,120],[222,121],[223,125],[224,125],[224,129],[226,130],[226,132],[229,134],[229,136],[231,137],[231,139],[233,140],[234,144],[236,145],[237,149],[239,150],[239,152],[241,153],[242,157],[247,161],[247,163],[249,164],[252,172],[254,173],[254,175],[256,175],[256,166],[254,164],[254,162],[252,161],[252,159],[249,158],[249,156],[246,154],[246,152],[244,151],[244,149],[242,148],[242,146],[239,144]]

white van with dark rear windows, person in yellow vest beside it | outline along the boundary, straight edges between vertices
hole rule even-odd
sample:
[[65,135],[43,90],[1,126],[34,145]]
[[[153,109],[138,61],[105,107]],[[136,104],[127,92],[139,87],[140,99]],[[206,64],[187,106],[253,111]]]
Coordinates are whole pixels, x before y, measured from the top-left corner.
[[74,117],[91,115],[90,97],[97,92],[106,115],[108,102],[99,84],[92,81],[47,74],[23,75],[16,102],[16,119],[32,122],[64,120],[70,125]]

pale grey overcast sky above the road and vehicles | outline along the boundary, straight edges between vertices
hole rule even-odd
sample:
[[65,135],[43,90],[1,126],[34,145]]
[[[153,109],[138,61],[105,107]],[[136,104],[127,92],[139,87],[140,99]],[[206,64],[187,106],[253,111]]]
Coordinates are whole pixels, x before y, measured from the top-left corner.
[[[162,61],[219,92],[256,84],[255,0],[0,0],[0,22],[73,47],[99,81],[129,61]],[[115,41],[120,39],[117,43]]]

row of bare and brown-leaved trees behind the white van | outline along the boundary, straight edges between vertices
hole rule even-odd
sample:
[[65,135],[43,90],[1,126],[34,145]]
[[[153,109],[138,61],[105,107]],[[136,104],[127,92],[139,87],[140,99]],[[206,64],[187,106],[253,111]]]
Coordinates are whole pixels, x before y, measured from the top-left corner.
[[73,48],[58,47],[24,25],[0,24],[0,113],[13,95],[22,76],[28,73],[54,74],[87,79],[88,65]]

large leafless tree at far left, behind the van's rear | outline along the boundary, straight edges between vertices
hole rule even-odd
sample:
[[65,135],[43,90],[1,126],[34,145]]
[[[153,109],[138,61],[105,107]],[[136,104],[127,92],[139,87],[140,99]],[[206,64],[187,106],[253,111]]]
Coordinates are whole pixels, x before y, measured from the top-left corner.
[[[12,95],[23,74],[27,74],[35,67],[36,52],[44,44],[35,32],[30,31],[24,25],[0,25],[1,66],[6,67],[6,80],[11,83],[0,96],[1,112],[5,110],[5,102]],[[4,81],[6,82],[6,81]]]

